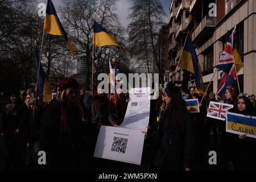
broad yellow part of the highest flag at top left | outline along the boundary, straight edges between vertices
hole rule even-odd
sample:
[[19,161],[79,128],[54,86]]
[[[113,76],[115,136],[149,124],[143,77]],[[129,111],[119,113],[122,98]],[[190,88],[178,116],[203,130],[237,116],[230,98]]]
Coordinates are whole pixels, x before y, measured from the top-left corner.
[[44,19],[44,31],[51,35],[62,35],[55,15],[46,14],[46,18]]

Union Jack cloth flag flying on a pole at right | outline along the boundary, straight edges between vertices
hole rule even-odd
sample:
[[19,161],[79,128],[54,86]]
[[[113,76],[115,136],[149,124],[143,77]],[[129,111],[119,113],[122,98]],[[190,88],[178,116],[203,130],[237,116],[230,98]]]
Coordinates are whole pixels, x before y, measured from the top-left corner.
[[226,87],[229,85],[233,85],[236,83],[236,70],[234,69],[234,60],[233,60],[233,38],[234,33],[236,32],[236,27],[232,31],[232,35],[229,35],[228,31],[228,41],[222,52],[221,58],[218,61],[217,68],[222,70],[223,73],[220,78],[220,82],[218,83],[217,94],[224,97],[224,93]]

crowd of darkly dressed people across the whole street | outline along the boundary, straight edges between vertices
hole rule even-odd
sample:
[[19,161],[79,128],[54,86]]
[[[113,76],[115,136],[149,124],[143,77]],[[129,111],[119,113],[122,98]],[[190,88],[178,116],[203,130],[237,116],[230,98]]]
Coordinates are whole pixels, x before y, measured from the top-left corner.
[[[93,157],[100,127],[121,125],[129,96],[122,89],[106,94],[96,83],[87,91],[78,88],[75,78],[60,80],[54,88],[56,98],[49,103],[34,98],[31,89],[10,93],[0,123],[8,151],[4,169],[38,166],[38,151],[47,154],[46,169],[104,169],[104,162]],[[224,100],[217,100],[214,93],[202,100],[193,85],[188,92],[181,94],[180,86],[169,82],[159,90],[158,99],[151,100],[148,130],[142,131],[152,147],[148,169],[200,169],[211,129],[215,146],[221,148],[221,169],[228,169],[229,160],[235,170],[256,169],[256,139],[227,133],[225,121],[206,117],[210,101],[232,104],[231,112],[255,116],[255,96],[238,96],[232,86]],[[200,113],[190,113],[184,98],[197,98]]]

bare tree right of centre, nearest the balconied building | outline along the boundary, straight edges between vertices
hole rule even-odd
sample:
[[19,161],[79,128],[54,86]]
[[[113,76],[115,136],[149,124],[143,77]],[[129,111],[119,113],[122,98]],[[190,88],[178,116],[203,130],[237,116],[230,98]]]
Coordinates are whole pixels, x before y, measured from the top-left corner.
[[160,62],[156,55],[156,40],[158,31],[163,24],[166,15],[159,0],[134,0],[129,9],[131,13],[128,18],[131,23],[127,31],[129,35],[130,52],[136,59],[147,66],[150,73],[150,65],[156,64],[156,70],[160,71]]

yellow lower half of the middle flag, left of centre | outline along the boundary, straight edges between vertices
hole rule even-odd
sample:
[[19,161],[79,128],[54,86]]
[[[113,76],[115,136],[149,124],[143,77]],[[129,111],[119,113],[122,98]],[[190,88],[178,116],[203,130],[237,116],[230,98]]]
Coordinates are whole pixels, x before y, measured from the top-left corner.
[[93,33],[93,45],[96,47],[102,47],[102,46],[118,46],[118,43],[115,41],[115,39],[109,35],[107,32],[98,32]]

